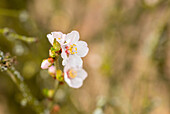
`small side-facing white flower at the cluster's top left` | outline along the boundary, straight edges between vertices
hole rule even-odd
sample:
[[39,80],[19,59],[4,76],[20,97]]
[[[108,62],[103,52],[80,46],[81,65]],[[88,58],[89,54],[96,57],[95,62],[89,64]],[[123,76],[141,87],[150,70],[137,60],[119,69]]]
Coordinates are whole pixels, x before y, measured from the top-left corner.
[[51,43],[51,45],[53,45],[54,39],[56,39],[56,41],[58,41],[60,45],[63,45],[65,41],[65,36],[66,35],[63,34],[62,32],[51,32],[51,34],[47,34],[47,38],[49,42]]

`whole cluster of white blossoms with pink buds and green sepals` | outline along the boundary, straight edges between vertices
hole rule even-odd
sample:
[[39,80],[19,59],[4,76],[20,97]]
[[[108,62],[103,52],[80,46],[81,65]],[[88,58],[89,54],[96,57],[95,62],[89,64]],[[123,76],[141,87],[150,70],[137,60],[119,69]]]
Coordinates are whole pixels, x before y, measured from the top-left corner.
[[[48,69],[49,74],[62,82],[65,81],[70,87],[79,88],[87,77],[83,69],[81,57],[85,57],[89,51],[87,43],[79,41],[79,33],[72,31],[68,34],[62,32],[51,32],[47,35],[52,47],[49,50],[49,58],[43,60],[42,69]],[[63,72],[57,68],[57,59],[61,55]]]

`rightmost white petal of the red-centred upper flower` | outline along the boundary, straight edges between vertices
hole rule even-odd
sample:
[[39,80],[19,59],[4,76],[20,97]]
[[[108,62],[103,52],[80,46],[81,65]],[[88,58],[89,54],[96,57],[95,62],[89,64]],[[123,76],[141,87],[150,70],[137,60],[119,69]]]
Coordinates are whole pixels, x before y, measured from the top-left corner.
[[77,55],[80,57],[84,57],[87,55],[89,48],[87,47],[87,43],[84,41],[77,42]]

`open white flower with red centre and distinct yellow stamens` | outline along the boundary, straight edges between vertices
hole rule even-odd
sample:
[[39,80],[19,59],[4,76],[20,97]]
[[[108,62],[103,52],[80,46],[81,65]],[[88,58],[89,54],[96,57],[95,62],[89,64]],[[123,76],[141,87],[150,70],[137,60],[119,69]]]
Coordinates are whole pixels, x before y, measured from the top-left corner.
[[61,45],[63,58],[63,65],[66,65],[67,59],[70,55],[78,55],[79,57],[84,57],[87,55],[89,48],[85,41],[78,41],[79,33],[77,31],[72,31],[65,36],[64,44]]

